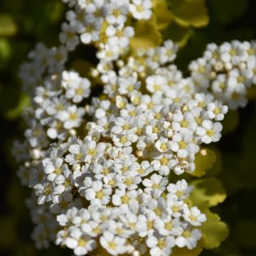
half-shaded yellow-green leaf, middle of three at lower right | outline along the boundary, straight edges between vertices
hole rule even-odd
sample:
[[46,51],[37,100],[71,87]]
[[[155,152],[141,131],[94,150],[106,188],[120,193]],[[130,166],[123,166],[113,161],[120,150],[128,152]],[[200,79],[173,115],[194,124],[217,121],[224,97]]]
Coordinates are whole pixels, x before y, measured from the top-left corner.
[[217,206],[226,198],[223,184],[217,178],[202,178],[191,183],[193,191],[190,199],[194,206],[206,210],[210,206]]

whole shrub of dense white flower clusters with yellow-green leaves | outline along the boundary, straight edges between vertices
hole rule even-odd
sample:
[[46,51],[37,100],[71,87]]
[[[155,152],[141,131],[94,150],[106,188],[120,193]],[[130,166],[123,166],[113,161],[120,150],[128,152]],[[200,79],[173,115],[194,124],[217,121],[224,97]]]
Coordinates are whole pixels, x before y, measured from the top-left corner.
[[[184,77],[178,46],[161,36],[167,2],[64,2],[60,46],[39,43],[20,72],[31,107],[14,156],[32,188],[36,246],[163,256],[218,247],[228,228],[210,207],[225,192],[215,178],[191,177],[215,161],[203,146],[220,140],[228,109],[247,104],[255,42],[210,43]],[[174,16],[183,24],[181,7]],[[66,68],[80,44],[97,49],[86,78]]]

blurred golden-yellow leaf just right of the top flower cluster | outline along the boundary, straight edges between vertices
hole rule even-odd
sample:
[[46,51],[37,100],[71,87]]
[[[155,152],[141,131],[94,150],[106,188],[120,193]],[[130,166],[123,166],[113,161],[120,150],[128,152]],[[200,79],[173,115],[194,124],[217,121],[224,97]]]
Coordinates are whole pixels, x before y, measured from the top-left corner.
[[161,33],[152,21],[138,21],[135,25],[135,36],[130,43],[133,50],[156,47],[161,44]]

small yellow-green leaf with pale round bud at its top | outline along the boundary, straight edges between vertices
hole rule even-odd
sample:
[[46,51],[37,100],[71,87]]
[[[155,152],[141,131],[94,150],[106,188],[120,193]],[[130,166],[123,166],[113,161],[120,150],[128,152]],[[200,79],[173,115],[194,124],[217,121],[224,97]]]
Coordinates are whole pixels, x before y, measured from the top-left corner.
[[206,174],[206,170],[210,169],[216,161],[216,155],[210,149],[201,149],[196,154],[196,169],[191,173],[192,176],[201,177]]

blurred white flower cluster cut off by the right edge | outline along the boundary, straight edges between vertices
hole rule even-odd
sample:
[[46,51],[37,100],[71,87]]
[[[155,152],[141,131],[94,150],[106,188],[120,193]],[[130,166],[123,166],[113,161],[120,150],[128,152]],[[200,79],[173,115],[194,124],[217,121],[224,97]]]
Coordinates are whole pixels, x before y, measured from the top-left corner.
[[210,90],[231,110],[245,107],[247,90],[256,82],[256,43],[210,43],[203,58],[192,61],[189,70],[198,87]]

